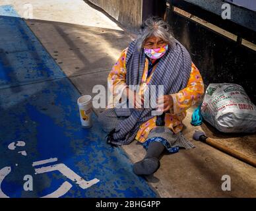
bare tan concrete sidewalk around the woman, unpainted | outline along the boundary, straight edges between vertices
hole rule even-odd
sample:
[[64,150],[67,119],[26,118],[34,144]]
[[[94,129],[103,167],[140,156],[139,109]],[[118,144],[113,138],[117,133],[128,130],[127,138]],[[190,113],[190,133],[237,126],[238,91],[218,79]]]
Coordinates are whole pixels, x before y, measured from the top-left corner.
[[[26,22],[56,63],[82,94],[92,94],[96,84],[106,87],[112,65],[133,34],[84,1],[39,2],[30,1],[34,5],[34,19]],[[26,1],[1,1],[13,4],[20,15],[22,3]],[[69,3],[72,7],[68,7]],[[190,125],[192,111],[191,108],[187,112],[184,134],[197,148],[164,155],[160,169],[154,177],[147,178],[150,185],[162,197],[255,197],[255,167],[193,141],[193,132],[201,127]],[[205,125],[202,128],[207,130]],[[137,142],[123,149],[132,162],[141,160],[145,153]],[[230,175],[232,191],[222,191],[222,175]]]

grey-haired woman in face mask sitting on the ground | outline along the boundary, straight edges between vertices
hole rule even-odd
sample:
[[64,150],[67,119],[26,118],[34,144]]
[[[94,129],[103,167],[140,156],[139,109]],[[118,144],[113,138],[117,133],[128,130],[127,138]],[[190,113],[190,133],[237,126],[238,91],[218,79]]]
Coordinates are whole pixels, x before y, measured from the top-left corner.
[[[139,85],[139,90],[132,90],[131,85]],[[144,94],[152,85],[162,85],[163,94],[156,92],[156,107],[144,107]],[[134,164],[134,173],[156,172],[164,149],[174,153],[179,147],[194,147],[180,132],[185,110],[203,96],[203,80],[187,49],[174,39],[164,20],[150,17],[143,22],[137,39],[113,66],[108,86],[110,104],[99,115],[104,131],[109,133],[108,141],[123,145],[135,139],[147,150],[144,159]],[[134,107],[120,107],[121,97],[126,99],[125,105],[132,102]],[[161,126],[152,115],[154,109],[165,113]]]

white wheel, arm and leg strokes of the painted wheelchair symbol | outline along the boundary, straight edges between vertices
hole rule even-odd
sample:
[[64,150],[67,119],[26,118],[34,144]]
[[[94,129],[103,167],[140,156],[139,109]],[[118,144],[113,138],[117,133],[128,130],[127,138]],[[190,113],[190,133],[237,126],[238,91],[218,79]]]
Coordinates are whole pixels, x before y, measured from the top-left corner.
[[[49,158],[48,160],[40,160],[38,162],[33,162],[32,166],[41,166],[43,164],[49,164],[52,162],[57,162],[57,158]],[[82,177],[77,175],[74,171],[72,171],[69,167],[67,167],[65,164],[55,164],[51,166],[44,166],[44,167],[39,167],[35,168],[35,174],[40,174],[40,173],[46,173],[50,171],[59,171],[62,173],[67,179],[70,179],[81,189],[88,189],[88,187],[91,187],[92,185],[95,185],[98,183],[100,180],[98,179],[92,179],[90,181],[85,181]],[[10,198],[9,196],[5,195],[1,189],[1,184],[5,177],[11,173],[11,167],[6,166],[0,169],[0,198]],[[72,187],[72,184],[65,181],[61,186],[56,190],[53,191],[53,193],[50,193],[49,195],[42,196],[41,198],[59,198],[60,196],[65,195]]]

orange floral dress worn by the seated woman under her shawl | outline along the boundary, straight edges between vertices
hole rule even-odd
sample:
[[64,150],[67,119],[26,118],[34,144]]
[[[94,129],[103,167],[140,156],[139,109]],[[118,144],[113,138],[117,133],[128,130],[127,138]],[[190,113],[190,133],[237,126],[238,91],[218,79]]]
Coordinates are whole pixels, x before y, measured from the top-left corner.
[[[107,108],[113,108],[119,102],[120,94],[127,87],[125,76],[125,58],[127,54],[127,49],[124,49],[121,56],[117,60],[117,63],[113,65],[112,71],[108,75],[108,88],[110,88],[110,99],[108,101]],[[145,60],[143,77],[139,87],[139,94],[143,94],[148,82],[150,82],[156,65],[152,69],[150,76],[148,76],[148,59]],[[176,94],[171,94],[174,101],[174,106],[170,109],[170,113],[166,113],[165,126],[172,129],[174,133],[179,133],[183,129],[182,121],[186,116],[186,109],[196,104],[197,101],[201,99],[204,93],[203,79],[199,73],[195,64],[191,64],[191,74],[189,81],[187,82],[187,87],[180,90]],[[145,142],[148,133],[156,127],[156,117],[152,117],[145,123],[143,123],[139,131],[137,132],[136,140],[143,143]]]

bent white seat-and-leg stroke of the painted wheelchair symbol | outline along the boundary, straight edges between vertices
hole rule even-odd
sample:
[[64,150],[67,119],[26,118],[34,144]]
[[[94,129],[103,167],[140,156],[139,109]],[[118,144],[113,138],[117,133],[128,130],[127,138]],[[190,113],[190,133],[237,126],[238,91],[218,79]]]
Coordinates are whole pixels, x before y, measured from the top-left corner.
[[74,171],[69,169],[69,167],[65,166],[65,164],[57,164],[57,165],[53,165],[53,166],[40,167],[38,169],[35,169],[35,171],[36,171],[35,174],[45,173],[45,172],[49,172],[49,171],[59,171],[63,175],[65,175],[67,178],[69,178],[72,181],[74,181],[75,183],[77,183],[80,186],[80,188],[82,188],[82,189],[87,189],[88,187],[91,187],[92,185],[94,185],[100,181],[96,178],[92,179],[90,181],[85,181],[84,179],[82,179],[82,177],[77,175],[77,173],[75,173]]

